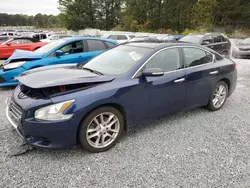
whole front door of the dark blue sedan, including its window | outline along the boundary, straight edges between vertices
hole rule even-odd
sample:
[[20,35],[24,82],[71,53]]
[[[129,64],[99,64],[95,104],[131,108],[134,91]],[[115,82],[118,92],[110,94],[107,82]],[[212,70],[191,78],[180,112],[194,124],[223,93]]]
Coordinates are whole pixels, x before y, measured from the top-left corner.
[[144,88],[140,94],[145,105],[143,118],[154,119],[165,116],[185,107],[185,71],[179,48],[168,48],[157,52],[151,57],[142,70],[158,68],[165,72],[159,77],[141,77],[140,85]]

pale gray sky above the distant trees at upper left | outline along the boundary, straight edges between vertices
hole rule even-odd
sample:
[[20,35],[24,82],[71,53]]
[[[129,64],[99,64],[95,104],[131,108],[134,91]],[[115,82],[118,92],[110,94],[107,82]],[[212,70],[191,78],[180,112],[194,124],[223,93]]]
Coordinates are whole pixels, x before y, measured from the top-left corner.
[[58,0],[0,0],[0,13],[59,14]]

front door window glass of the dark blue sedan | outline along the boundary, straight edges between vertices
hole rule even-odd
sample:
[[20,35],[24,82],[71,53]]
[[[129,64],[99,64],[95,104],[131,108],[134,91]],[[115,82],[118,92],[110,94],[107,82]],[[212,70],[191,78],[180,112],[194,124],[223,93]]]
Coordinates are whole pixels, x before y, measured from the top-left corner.
[[181,69],[179,49],[171,48],[159,52],[148,61],[145,68],[160,68],[164,72]]

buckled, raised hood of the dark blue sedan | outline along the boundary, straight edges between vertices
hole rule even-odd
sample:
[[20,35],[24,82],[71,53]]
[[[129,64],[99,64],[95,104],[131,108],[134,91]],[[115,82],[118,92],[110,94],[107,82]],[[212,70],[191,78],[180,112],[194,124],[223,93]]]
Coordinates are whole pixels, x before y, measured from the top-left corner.
[[82,70],[76,64],[52,65],[22,73],[18,80],[30,88],[48,88],[82,83],[103,83],[114,80],[113,76],[100,76]]

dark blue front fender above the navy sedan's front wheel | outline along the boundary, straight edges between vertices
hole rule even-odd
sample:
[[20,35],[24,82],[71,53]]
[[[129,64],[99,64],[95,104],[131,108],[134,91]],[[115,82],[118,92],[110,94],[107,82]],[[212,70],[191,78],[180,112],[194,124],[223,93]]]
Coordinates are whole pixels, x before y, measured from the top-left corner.
[[[127,124],[133,124],[133,113],[131,109],[135,105],[140,107],[143,106],[135,103],[135,101],[140,103],[141,100],[139,99],[142,98],[140,95],[136,94],[138,91],[134,87],[137,85],[135,83],[136,81],[131,79],[130,81],[123,81],[122,83],[120,81],[116,83],[113,82],[67,95],[52,97],[52,101],[53,103],[59,103],[75,99],[75,103],[66,112],[67,114],[74,114],[72,118],[74,119],[74,123],[72,126],[74,126],[75,131],[78,130],[81,121],[89,112],[104,105],[116,105],[121,107],[126,114]],[[138,100],[136,98],[138,98]]]

